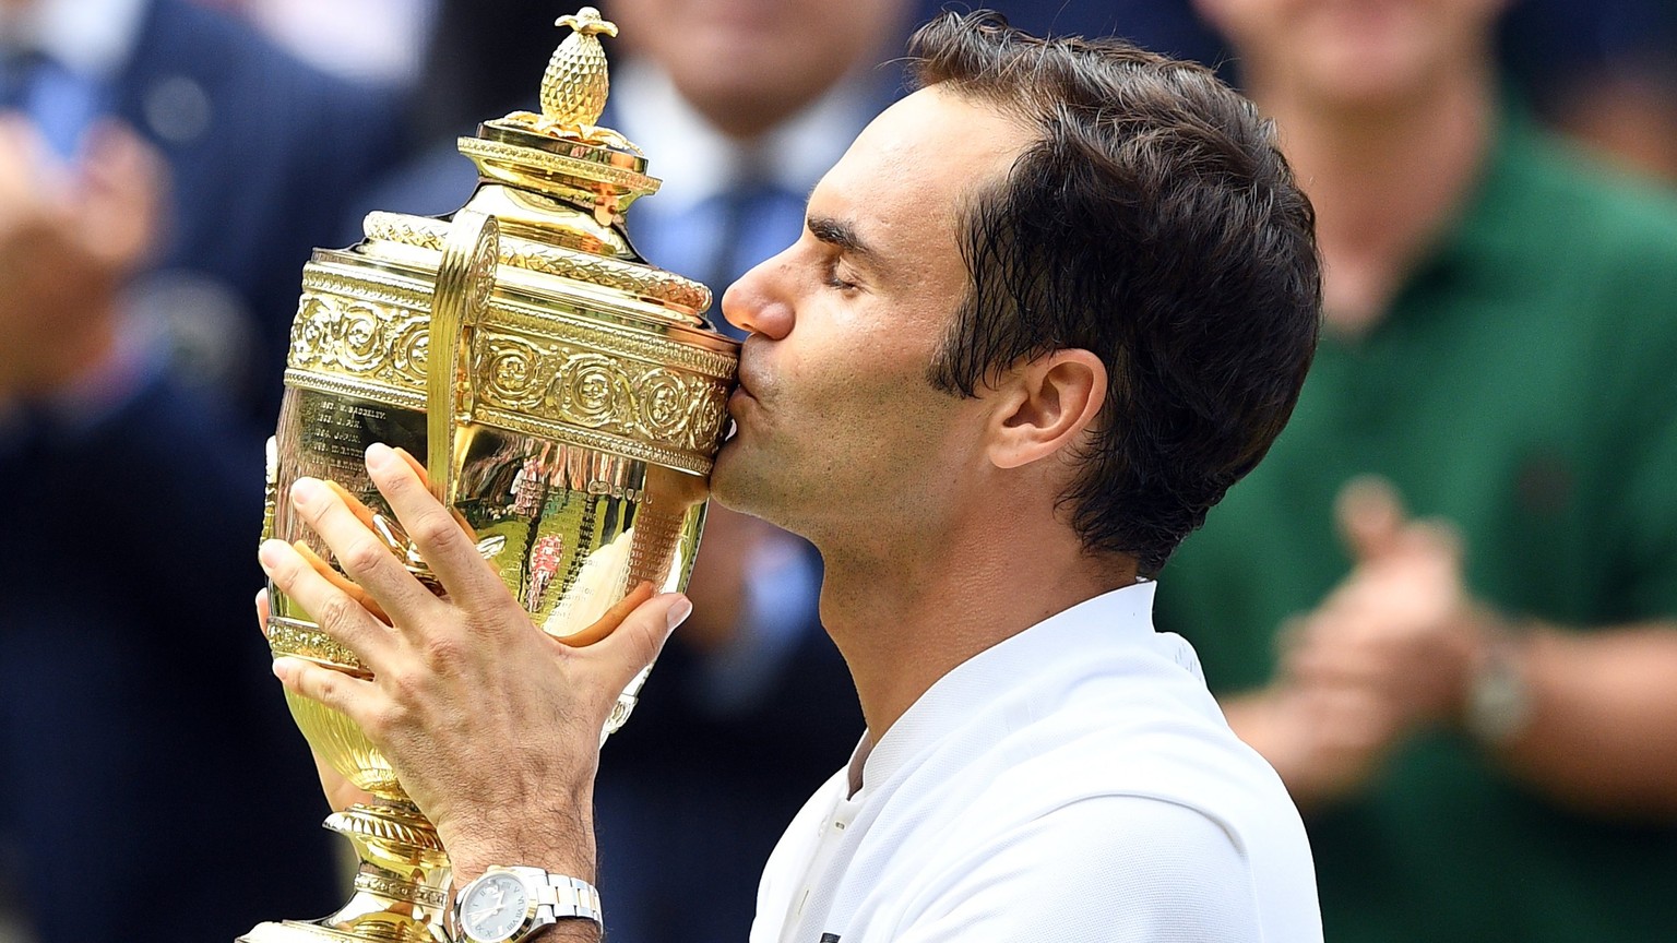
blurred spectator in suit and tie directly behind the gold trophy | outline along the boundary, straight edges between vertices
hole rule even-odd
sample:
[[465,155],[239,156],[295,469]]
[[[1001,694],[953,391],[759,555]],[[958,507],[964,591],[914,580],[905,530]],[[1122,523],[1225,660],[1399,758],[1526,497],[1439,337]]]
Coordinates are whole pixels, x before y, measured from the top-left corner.
[[[476,181],[454,138],[533,104],[563,37],[540,29],[550,18],[491,7],[443,3],[438,42],[449,59],[421,107],[451,126],[369,208],[453,211]],[[901,49],[907,0],[602,8],[622,34],[607,44],[612,96],[600,122],[639,144],[664,181],[636,203],[629,233],[652,263],[719,297],[798,237],[810,188],[899,92],[901,72],[879,64]],[[542,50],[528,49],[537,34]],[[476,59],[454,59],[461,50]],[[434,82],[446,97],[429,97]],[[862,733],[844,661],[820,628],[818,581],[812,547],[711,508],[689,591],[694,614],[602,758],[595,819],[614,941],[746,938],[780,824]]]

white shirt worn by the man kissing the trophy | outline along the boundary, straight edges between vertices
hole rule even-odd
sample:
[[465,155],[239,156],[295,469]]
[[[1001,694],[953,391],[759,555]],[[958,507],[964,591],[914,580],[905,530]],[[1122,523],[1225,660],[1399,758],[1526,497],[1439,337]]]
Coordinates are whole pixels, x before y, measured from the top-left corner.
[[770,856],[751,943],[1320,943],[1298,812],[1152,596],[1038,623],[864,737]]

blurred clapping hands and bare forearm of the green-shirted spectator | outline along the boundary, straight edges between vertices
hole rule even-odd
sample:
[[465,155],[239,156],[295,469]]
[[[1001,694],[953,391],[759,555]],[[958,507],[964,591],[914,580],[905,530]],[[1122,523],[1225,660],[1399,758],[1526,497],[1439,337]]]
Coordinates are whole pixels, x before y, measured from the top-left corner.
[[[1464,591],[1449,527],[1409,520],[1389,485],[1353,482],[1338,518],[1357,567],[1283,631],[1276,681],[1224,703],[1229,727],[1305,807],[1365,789],[1412,732],[1459,722],[1504,631]],[[1529,716],[1489,752],[1568,807],[1670,822],[1677,626],[1593,629],[1524,628],[1518,673]]]

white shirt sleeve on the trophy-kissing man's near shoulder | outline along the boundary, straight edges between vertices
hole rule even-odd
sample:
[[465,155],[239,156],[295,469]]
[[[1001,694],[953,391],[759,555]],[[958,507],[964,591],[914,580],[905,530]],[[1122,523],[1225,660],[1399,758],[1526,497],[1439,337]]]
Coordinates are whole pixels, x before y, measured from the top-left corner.
[[890,940],[1263,940],[1249,862],[1229,832],[1142,797],[1087,799],[999,836],[942,876],[907,923]]

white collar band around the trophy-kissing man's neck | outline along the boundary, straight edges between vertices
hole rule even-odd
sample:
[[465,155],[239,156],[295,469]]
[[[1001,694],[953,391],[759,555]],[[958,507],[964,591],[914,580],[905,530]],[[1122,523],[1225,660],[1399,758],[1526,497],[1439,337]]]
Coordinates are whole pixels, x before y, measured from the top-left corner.
[[[1068,658],[1087,661],[1098,651],[1157,644],[1160,636],[1152,626],[1155,586],[1152,581],[1142,581],[1103,592],[954,666],[921,695],[877,743],[872,740],[872,732],[862,737],[862,745],[850,757],[850,792],[889,782],[926,747],[964,723],[979,705],[993,700],[998,690],[1016,685],[1020,678]],[[1176,644],[1181,649],[1179,659],[1192,658],[1186,643],[1177,639]],[[1184,668],[1199,671],[1197,661]]]

